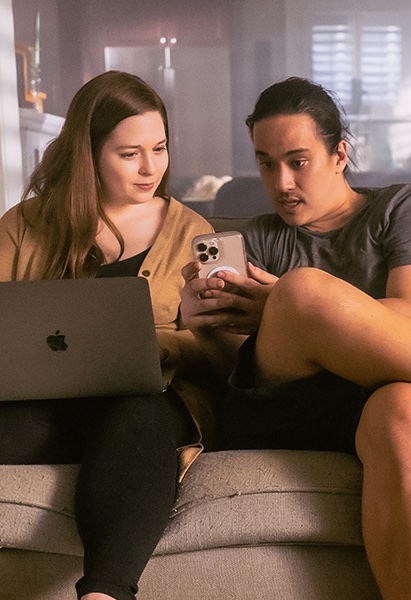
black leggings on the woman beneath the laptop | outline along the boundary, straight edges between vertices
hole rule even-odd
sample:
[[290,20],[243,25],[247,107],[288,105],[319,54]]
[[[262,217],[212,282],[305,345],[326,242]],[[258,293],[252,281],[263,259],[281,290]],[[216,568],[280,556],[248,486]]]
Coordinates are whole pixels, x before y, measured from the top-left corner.
[[137,398],[0,403],[1,463],[81,463],[79,598],[101,592],[134,599],[175,500],[176,448],[192,435],[191,417],[171,390]]

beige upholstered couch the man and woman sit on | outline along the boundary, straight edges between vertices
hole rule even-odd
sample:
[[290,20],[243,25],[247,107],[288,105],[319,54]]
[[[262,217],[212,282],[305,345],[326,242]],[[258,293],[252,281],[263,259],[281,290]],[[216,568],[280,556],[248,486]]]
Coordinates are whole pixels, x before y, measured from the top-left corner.
[[[241,219],[214,219],[235,229]],[[75,600],[78,466],[0,466],[0,600]],[[362,469],[334,452],[203,453],[139,600],[377,600],[361,535]],[[136,532],[138,535],[138,532]]]

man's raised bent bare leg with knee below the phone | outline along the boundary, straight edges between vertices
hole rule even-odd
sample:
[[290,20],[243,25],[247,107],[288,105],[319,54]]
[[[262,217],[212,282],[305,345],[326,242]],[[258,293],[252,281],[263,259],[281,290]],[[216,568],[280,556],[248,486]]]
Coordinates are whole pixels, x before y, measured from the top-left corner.
[[411,382],[411,318],[313,268],[283,275],[257,335],[258,382],[275,385],[327,369],[367,387]]

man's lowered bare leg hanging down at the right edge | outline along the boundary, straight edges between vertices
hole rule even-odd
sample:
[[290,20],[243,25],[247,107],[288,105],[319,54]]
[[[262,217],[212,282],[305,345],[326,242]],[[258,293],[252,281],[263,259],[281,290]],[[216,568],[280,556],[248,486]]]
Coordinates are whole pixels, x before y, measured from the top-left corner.
[[384,600],[411,599],[411,384],[377,390],[357,431],[363,534]]

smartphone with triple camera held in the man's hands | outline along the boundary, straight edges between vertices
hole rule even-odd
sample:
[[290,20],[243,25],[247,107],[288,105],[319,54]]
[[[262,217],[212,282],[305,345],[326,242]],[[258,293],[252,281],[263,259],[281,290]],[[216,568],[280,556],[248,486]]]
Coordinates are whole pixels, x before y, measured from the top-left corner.
[[199,277],[213,277],[218,271],[247,276],[244,238],[239,231],[197,235],[192,250],[194,260],[202,265]]

